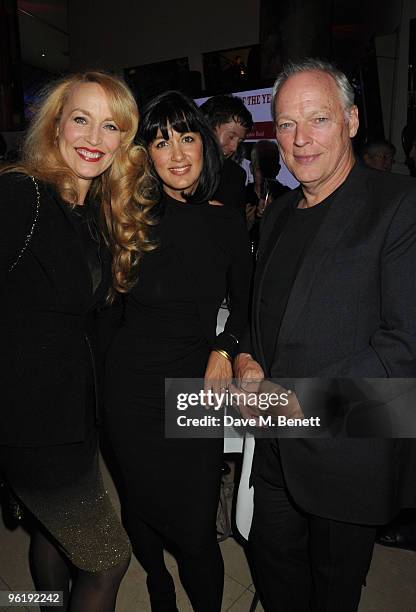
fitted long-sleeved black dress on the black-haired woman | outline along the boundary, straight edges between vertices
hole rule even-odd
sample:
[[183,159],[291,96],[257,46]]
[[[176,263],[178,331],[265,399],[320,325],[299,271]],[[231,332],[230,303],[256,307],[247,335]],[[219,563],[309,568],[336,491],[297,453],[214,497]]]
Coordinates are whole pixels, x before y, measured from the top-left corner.
[[[149,575],[152,609],[159,609],[153,576],[163,573],[150,550],[157,548],[157,534],[178,552],[182,573],[187,574],[189,558],[194,569],[202,563],[205,573],[211,571],[209,588],[208,576],[200,586],[205,599],[210,589],[212,597],[205,608],[197,595],[192,603],[215,612],[221,599],[215,583],[222,581],[215,520],[223,440],[165,438],[164,379],[203,378],[214,345],[231,351],[247,318],[248,236],[241,215],[226,207],[185,204],[165,195],[160,208],[159,247],[141,261],[108,356],[108,432],[124,485],[125,526]],[[231,314],[216,338],[227,285]],[[160,593],[163,580],[157,582]],[[192,600],[192,585],[187,590]]]

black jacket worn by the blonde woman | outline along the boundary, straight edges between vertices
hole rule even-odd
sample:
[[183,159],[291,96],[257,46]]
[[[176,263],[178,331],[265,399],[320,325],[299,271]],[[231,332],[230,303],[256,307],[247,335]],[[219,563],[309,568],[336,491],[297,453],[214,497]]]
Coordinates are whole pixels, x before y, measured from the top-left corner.
[[[0,176],[0,444],[38,446],[83,439],[86,340],[94,304],[87,262],[72,213],[38,181],[40,210],[33,235],[9,272],[32,226],[36,191],[29,177]],[[102,248],[104,278],[110,262]]]

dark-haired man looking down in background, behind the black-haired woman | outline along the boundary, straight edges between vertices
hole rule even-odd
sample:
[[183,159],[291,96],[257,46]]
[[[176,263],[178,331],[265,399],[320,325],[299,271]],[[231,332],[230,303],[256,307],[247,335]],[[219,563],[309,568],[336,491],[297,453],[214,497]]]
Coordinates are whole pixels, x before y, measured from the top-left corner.
[[213,96],[200,109],[214,130],[224,156],[221,180],[213,200],[245,214],[246,172],[233,156],[253,127],[251,113],[241,98],[230,95]]

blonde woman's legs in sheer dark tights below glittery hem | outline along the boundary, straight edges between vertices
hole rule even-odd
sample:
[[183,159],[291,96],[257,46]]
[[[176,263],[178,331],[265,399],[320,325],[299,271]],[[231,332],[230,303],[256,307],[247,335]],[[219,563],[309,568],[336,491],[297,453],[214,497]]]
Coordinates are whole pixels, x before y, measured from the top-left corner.
[[[36,588],[63,591],[63,612],[114,612],[118,588],[129,566],[129,559],[102,572],[77,569],[70,590],[68,562],[39,530],[32,536],[30,557]],[[41,610],[47,612],[49,608]]]

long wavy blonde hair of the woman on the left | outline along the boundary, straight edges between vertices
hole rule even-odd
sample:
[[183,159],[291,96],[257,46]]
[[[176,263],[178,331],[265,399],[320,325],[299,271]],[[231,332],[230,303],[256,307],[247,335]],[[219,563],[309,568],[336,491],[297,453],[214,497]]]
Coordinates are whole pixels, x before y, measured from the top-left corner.
[[113,290],[128,292],[137,279],[144,252],[155,248],[150,240],[156,199],[146,149],[134,145],[139,112],[133,94],[118,77],[105,72],[84,72],[64,77],[42,94],[22,147],[21,162],[7,168],[52,184],[69,204],[78,201],[77,179],[57,145],[62,111],[72,89],[96,83],[105,92],[112,117],[121,131],[121,144],[112,164],[93,179],[89,195],[101,204],[101,222],[111,249]]

